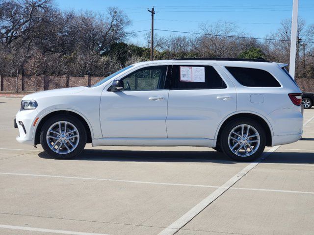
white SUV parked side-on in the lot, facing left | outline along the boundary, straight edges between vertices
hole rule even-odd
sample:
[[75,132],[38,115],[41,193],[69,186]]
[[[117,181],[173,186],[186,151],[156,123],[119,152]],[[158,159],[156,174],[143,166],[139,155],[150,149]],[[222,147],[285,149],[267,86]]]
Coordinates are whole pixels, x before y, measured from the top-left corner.
[[286,64],[183,58],[141,62],[92,87],[26,95],[17,141],[56,159],[93,146],[206,146],[236,161],[298,141],[302,93]]

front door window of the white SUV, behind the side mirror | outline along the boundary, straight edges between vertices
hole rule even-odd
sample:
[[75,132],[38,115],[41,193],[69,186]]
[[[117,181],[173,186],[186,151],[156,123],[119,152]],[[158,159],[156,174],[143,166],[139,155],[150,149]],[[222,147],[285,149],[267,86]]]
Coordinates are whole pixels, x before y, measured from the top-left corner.
[[151,66],[139,69],[122,78],[125,91],[164,89],[167,66]]

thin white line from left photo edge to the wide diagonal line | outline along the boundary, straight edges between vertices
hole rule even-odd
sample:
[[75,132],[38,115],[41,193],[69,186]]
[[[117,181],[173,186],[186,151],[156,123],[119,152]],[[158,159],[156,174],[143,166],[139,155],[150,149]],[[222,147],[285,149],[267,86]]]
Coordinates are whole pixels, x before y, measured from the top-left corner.
[[133,180],[113,180],[113,179],[75,177],[75,176],[39,175],[39,174],[23,174],[23,173],[7,173],[7,172],[0,172],[0,174],[1,174],[1,175],[33,176],[33,177],[51,177],[51,178],[62,178],[62,179],[78,179],[78,180],[100,180],[100,181],[113,181],[113,182],[137,183],[137,184],[151,184],[151,185],[171,185],[171,186],[191,186],[191,187],[205,187],[205,188],[220,188],[219,186],[209,186],[209,185],[191,185],[191,184],[175,184],[175,183],[158,183],[158,182],[133,181]]

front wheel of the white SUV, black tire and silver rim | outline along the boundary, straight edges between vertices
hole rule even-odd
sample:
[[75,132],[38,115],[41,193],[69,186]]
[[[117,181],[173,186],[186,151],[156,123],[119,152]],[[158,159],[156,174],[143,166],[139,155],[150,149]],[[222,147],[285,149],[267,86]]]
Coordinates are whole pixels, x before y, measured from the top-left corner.
[[[65,128],[67,131],[64,131]],[[78,118],[70,115],[62,114],[49,118],[40,132],[43,149],[54,159],[70,159],[78,156],[85,147],[86,139],[85,127]]]

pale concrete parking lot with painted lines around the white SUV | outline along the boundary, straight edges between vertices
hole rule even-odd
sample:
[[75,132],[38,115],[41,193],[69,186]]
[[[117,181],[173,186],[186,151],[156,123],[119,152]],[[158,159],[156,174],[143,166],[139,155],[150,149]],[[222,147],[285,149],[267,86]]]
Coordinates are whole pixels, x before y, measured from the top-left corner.
[[211,148],[95,147],[53,160],[15,141],[0,97],[0,235],[313,235],[314,109],[255,163]]

